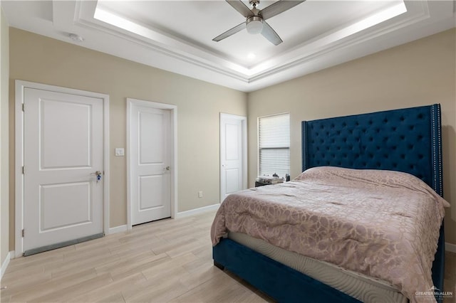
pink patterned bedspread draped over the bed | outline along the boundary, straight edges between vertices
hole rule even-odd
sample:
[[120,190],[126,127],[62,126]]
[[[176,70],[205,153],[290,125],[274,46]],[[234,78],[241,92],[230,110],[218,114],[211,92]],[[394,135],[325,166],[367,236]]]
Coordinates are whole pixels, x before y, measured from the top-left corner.
[[229,195],[211,228],[228,230],[390,282],[411,302],[432,287],[444,206],[427,184],[397,171],[309,169],[294,181]]

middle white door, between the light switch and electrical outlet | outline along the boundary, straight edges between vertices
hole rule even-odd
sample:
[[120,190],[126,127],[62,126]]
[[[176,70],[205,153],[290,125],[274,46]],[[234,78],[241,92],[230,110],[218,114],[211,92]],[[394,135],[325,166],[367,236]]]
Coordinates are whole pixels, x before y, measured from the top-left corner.
[[171,138],[170,110],[131,105],[132,225],[171,216]]

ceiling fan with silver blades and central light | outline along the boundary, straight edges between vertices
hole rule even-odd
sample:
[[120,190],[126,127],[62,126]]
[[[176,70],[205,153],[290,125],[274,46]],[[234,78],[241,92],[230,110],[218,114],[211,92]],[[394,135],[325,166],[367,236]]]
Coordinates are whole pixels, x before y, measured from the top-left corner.
[[282,39],[277,35],[271,26],[266,22],[266,19],[274,17],[278,14],[283,13],[291,9],[292,7],[304,2],[306,0],[281,0],[277,1],[270,6],[265,7],[264,9],[257,9],[257,5],[259,4],[259,0],[249,0],[249,4],[253,6],[252,9],[249,9],[247,5],[244,4],[241,0],[226,0],[229,5],[231,5],[235,10],[239,11],[239,13],[246,18],[246,21],[234,26],[234,28],[229,29],[212,39],[212,41],[221,41],[224,38],[234,35],[238,31],[242,31],[244,28],[247,28],[248,33],[257,34],[261,33],[264,38],[268,39],[274,45],[278,46],[280,43],[284,42]]

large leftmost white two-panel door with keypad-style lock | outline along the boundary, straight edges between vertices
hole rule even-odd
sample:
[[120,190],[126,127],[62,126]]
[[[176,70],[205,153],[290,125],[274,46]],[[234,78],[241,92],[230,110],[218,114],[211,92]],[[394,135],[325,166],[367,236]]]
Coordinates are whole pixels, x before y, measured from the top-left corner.
[[24,251],[103,235],[103,100],[24,89]]

